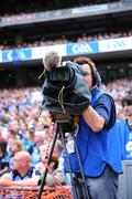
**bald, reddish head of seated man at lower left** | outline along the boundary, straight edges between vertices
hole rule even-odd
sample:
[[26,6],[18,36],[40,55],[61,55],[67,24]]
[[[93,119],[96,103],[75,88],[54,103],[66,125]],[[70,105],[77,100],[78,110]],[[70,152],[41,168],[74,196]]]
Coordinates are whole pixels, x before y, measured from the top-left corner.
[[31,156],[28,151],[19,151],[13,158],[13,170],[18,170],[20,174],[29,170],[31,165]]

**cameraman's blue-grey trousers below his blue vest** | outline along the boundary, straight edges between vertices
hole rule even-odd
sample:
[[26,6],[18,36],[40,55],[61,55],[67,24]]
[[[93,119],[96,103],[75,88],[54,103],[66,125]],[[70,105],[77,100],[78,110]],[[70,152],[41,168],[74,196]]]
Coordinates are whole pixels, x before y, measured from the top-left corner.
[[[118,177],[110,166],[106,166],[101,176],[96,178],[85,177],[90,199],[118,199]],[[79,199],[84,199],[81,180],[77,180]],[[73,193],[73,198],[76,199]]]

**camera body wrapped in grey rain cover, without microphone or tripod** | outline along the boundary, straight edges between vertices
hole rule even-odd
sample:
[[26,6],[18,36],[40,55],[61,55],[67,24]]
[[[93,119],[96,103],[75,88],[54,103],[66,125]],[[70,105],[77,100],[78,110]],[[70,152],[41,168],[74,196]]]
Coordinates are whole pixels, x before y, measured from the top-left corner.
[[42,111],[81,114],[90,103],[90,92],[84,82],[80,66],[67,62],[65,66],[52,67],[45,73]]

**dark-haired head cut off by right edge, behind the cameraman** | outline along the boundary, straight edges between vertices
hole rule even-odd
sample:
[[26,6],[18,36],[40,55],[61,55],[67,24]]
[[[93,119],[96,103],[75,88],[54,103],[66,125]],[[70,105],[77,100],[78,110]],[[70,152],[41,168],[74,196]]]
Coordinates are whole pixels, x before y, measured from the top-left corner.
[[125,117],[132,117],[132,94],[122,100],[122,106]]

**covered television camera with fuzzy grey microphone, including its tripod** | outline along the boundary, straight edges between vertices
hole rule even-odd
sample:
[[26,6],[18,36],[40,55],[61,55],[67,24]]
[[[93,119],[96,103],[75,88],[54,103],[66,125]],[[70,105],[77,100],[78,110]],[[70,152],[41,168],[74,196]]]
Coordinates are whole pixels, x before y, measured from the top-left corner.
[[[76,124],[78,123],[78,115],[85,111],[90,104],[90,92],[87,84],[84,81],[84,71],[81,67],[74,63],[67,62],[65,65],[61,66],[61,59],[56,52],[50,52],[43,60],[45,66],[45,81],[43,84],[43,102],[42,111],[50,111],[53,122],[57,124],[57,129],[53,138],[53,145],[51,148],[50,157],[47,164],[50,165],[52,154],[54,150],[57,134],[59,132],[64,149],[66,153],[66,160],[69,169],[69,175],[72,179],[73,191],[75,192],[76,199],[79,199],[77,189],[75,185],[76,180],[73,177],[70,161],[68,158],[68,151],[66,148],[65,133],[70,133],[74,140],[74,132],[76,129]],[[82,172],[82,167],[80,163],[79,153],[76,146],[76,153],[78,161],[80,165],[80,172],[82,178],[84,187],[84,199],[88,199],[87,186]],[[38,193],[38,199],[41,199],[42,190],[45,184],[45,178],[47,175],[47,169],[45,169],[41,189]]]

